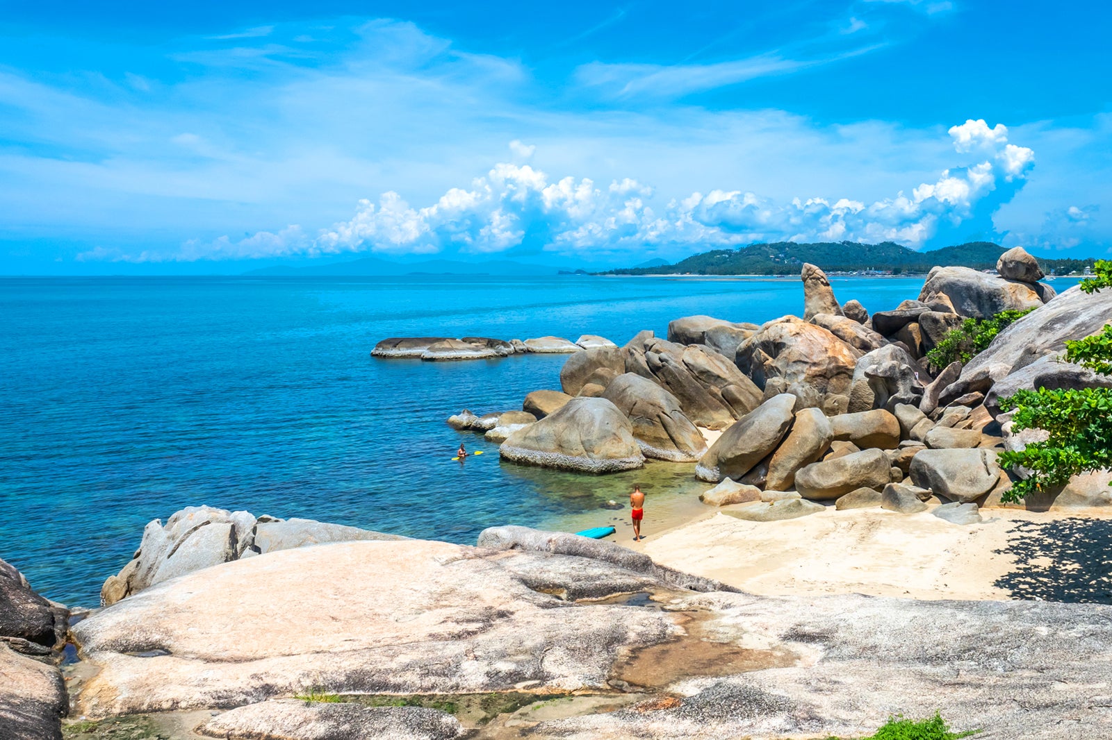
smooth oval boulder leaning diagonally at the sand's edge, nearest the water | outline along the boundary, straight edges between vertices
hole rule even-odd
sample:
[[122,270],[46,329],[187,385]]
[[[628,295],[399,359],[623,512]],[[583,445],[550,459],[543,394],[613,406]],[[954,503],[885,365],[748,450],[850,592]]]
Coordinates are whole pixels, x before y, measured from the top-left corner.
[[737,480],[776,449],[794,420],[796,399],[782,393],[731,426],[695,466],[699,480]]

